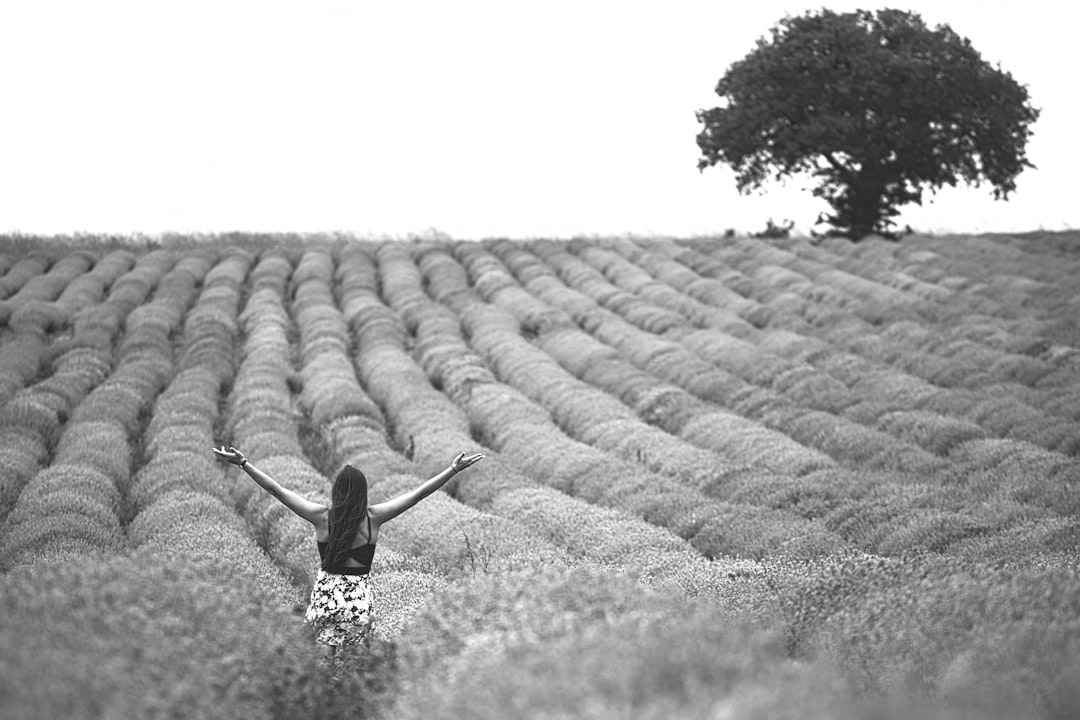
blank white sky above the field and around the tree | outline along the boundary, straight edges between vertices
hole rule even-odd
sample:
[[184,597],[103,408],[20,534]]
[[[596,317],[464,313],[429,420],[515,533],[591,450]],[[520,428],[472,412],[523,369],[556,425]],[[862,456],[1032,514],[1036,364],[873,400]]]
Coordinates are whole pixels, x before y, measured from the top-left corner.
[[[699,174],[699,108],[785,13],[864,2],[0,0],[0,232],[458,237],[809,228],[806,184]],[[1078,3],[912,0],[1027,84],[1009,202],[900,223],[1080,227]],[[932,198],[932,196],[931,196]]]

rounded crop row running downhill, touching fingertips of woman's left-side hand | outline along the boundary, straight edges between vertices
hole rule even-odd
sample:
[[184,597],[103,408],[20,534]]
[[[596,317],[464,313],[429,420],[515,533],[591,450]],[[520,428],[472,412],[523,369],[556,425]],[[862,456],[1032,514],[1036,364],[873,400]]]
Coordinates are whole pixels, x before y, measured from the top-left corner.
[[302,593],[252,538],[233,507],[234,480],[211,452],[221,392],[233,378],[237,314],[251,266],[243,252],[218,258],[184,317],[176,373],[144,435],[146,463],[133,481],[129,540],[152,562],[227,572],[229,582],[298,602]]

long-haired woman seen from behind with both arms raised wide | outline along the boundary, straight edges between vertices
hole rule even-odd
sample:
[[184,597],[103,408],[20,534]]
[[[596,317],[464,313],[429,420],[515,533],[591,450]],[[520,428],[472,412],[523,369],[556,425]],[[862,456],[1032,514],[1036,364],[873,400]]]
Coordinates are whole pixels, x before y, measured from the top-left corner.
[[234,447],[226,449],[222,445],[214,448],[214,452],[239,465],[262,489],[315,527],[322,567],[311,589],[305,621],[319,630],[318,640],[326,646],[330,656],[341,646],[370,638],[374,620],[368,573],[379,528],[438,490],[457,473],[484,459],[483,454],[465,457],[462,452],[449,467],[420,487],[376,505],[367,504],[364,474],[346,465],[334,480],[327,507],[282,487]]

